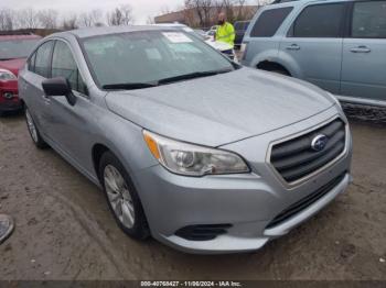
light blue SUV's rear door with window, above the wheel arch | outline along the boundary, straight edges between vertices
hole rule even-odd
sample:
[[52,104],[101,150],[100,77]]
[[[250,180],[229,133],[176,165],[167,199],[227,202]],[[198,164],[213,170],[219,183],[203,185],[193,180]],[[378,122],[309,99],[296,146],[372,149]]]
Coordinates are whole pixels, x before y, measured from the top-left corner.
[[346,8],[341,2],[311,4],[299,13],[279,52],[279,58],[292,67],[292,76],[340,91]]

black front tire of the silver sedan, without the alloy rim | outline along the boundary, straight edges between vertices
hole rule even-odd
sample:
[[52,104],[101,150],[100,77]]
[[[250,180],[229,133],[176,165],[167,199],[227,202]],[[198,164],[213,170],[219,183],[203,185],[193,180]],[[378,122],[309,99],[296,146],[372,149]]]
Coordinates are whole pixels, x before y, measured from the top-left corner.
[[[108,199],[107,196],[107,191],[106,191],[106,187],[105,187],[105,180],[104,180],[104,171],[105,171],[105,167],[107,165],[111,165],[114,166],[119,173],[120,175],[124,177],[126,185],[129,188],[129,192],[132,199],[132,203],[133,203],[133,208],[135,208],[135,224],[132,228],[127,228],[125,226],[120,220],[117,218],[111,203]],[[132,184],[132,180],[129,176],[129,174],[126,171],[124,165],[119,162],[119,159],[111,153],[111,152],[106,152],[99,162],[99,179],[100,179],[100,184],[103,186],[104,189],[104,193],[108,203],[108,207],[114,215],[114,219],[116,220],[118,226],[128,235],[137,239],[137,240],[143,240],[147,239],[149,236],[149,228],[148,228],[148,222],[143,212],[143,208],[141,204],[141,201],[138,197],[138,192],[136,190],[136,187]]]

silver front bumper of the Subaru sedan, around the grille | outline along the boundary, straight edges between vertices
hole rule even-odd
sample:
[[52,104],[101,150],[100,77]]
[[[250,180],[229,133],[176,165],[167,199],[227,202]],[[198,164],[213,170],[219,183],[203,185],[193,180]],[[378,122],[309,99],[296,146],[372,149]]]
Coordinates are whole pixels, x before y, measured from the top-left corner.
[[[216,254],[255,251],[269,240],[287,234],[347,188],[351,181],[352,141],[349,134],[347,152],[339,162],[291,189],[278,179],[266,163],[269,143],[283,134],[307,130],[330,117],[332,113],[325,112],[313,121],[307,120],[225,146],[249,160],[250,174],[193,178],[173,175],[161,166],[138,173],[136,184],[153,237],[184,252]],[[251,151],[250,147],[256,149]],[[267,229],[280,212],[340,175],[343,175],[341,180],[323,197]],[[185,226],[215,224],[232,226],[226,229],[225,234],[207,241],[192,241],[176,235],[176,231]]]

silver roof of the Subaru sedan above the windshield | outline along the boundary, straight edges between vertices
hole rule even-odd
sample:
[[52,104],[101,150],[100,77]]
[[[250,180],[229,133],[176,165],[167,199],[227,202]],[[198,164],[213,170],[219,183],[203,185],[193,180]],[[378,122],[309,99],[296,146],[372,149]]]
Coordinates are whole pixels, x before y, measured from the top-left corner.
[[122,26],[103,26],[103,27],[85,27],[77,29],[67,32],[61,32],[52,34],[52,36],[68,36],[74,35],[78,38],[94,37],[99,35],[108,35],[115,33],[130,33],[138,31],[164,31],[173,29],[171,26],[159,26],[159,25],[122,25]]

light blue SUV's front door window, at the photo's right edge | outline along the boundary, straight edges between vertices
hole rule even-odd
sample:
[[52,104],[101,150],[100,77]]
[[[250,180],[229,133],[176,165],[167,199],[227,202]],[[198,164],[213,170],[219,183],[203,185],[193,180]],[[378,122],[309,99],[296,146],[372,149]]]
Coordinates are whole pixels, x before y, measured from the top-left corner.
[[386,1],[354,3],[351,36],[386,38]]

